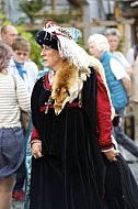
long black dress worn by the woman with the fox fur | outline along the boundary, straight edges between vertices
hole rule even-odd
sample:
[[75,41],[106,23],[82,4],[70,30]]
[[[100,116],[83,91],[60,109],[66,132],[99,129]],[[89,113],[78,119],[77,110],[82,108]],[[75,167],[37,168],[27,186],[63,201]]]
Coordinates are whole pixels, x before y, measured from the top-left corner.
[[111,163],[102,155],[96,135],[96,85],[92,69],[82,91],[84,108],[66,107],[56,116],[54,108],[39,112],[50,89],[44,85],[44,77],[36,82],[32,120],[44,157],[32,157],[30,209],[125,209],[118,169],[118,184],[113,182],[118,185],[118,197],[115,193],[114,198],[106,198],[106,168]]

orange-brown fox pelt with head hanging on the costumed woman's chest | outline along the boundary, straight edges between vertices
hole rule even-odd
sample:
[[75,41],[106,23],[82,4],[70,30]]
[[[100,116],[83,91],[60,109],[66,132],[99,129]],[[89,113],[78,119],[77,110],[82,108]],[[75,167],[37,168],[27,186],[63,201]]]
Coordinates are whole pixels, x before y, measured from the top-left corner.
[[54,76],[51,99],[55,100],[55,113],[58,116],[67,102],[72,102],[80,94],[83,81],[87,80],[89,70],[78,68],[70,62],[65,61]]

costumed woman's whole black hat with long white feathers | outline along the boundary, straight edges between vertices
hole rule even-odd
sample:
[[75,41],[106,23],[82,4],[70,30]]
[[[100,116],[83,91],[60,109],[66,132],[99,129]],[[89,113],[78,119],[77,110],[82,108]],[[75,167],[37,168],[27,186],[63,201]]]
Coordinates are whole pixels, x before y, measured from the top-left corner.
[[62,59],[70,61],[79,70],[87,69],[90,73],[90,57],[77,42],[82,34],[74,28],[61,28],[51,19],[44,22],[43,30],[38,31],[35,41],[41,46],[47,45],[57,50]]

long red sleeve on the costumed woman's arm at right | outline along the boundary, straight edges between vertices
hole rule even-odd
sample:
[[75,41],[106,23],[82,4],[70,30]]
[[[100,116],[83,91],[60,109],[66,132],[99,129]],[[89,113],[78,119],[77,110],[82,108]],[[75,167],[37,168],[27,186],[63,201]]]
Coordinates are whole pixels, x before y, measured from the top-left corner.
[[111,102],[107,96],[106,87],[100,76],[97,76],[97,134],[99,144],[102,151],[113,147],[112,143],[112,120],[111,120]]

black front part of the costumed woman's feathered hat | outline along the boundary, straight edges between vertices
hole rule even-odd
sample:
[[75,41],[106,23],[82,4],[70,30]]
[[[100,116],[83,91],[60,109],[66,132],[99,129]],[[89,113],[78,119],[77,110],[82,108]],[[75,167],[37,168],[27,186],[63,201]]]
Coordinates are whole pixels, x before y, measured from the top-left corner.
[[53,33],[38,31],[35,35],[35,41],[43,47],[43,44],[58,51],[58,38]]

